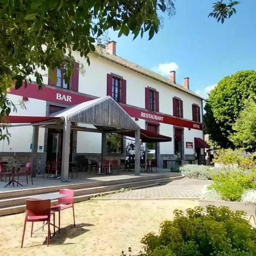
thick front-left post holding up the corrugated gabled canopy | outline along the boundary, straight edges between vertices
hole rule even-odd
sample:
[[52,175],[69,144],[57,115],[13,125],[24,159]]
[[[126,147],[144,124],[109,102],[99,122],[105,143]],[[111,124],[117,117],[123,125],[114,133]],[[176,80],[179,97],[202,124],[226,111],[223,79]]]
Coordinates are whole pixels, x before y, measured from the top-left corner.
[[63,124],[61,182],[68,182],[69,156],[70,156],[70,127],[71,122],[65,118]]

